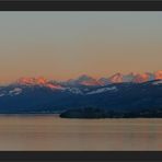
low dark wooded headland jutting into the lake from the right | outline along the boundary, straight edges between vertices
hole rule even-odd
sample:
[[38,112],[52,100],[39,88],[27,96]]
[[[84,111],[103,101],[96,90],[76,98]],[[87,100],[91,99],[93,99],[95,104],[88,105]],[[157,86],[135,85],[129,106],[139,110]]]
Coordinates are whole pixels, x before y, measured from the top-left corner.
[[107,111],[105,108],[73,108],[60,114],[62,118],[162,118],[162,108],[136,112]]

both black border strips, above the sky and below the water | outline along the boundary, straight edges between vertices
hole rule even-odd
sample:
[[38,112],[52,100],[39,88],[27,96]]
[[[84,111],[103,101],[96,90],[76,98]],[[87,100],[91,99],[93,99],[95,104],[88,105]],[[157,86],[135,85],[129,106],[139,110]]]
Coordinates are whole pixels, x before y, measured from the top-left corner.
[[[162,11],[162,1],[0,0],[0,11]],[[155,162],[161,151],[0,151],[0,161]]]

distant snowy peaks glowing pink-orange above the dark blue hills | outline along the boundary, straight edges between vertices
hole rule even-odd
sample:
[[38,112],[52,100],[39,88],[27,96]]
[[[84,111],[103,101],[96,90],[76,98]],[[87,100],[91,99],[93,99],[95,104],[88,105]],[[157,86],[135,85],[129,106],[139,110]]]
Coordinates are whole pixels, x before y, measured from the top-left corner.
[[161,80],[162,79],[162,70],[155,72],[143,72],[143,73],[135,73],[130,72],[128,74],[123,74],[117,72],[111,77],[103,77],[100,79],[95,79],[88,74],[82,74],[76,79],[69,79],[67,81],[56,81],[56,80],[47,80],[44,77],[38,78],[20,78],[16,82],[20,84],[26,85],[45,85],[51,89],[61,89],[62,85],[88,85],[88,86],[96,86],[96,85],[107,85],[112,83],[123,83],[123,82],[134,82],[134,83],[142,83],[152,80]]

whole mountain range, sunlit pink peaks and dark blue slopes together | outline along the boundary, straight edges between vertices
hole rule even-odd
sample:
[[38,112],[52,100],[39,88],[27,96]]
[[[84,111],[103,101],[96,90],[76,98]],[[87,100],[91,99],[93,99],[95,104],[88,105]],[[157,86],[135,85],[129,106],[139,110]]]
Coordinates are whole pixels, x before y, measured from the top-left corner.
[[65,82],[21,78],[0,86],[1,114],[61,113],[80,107],[161,112],[162,71],[116,73],[101,79],[83,74]]

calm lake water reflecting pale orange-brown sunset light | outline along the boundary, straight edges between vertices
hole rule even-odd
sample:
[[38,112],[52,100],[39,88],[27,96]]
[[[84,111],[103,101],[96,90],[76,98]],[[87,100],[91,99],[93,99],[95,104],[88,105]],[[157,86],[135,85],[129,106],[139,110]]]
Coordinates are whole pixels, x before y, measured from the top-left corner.
[[0,116],[1,150],[162,150],[162,119]]

